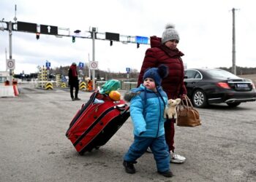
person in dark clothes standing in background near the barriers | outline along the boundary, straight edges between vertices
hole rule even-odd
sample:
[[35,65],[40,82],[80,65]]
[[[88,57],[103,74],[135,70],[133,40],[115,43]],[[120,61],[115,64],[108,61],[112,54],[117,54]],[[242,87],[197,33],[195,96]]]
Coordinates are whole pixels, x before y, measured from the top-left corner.
[[[78,81],[78,71],[77,71],[77,64],[72,63],[69,68],[69,87],[70,87],[70,96],[72,100],[80,100],[78,98],[78,90],[79,90],[79,81]],[[73,89],[75,87],[75,98]]]

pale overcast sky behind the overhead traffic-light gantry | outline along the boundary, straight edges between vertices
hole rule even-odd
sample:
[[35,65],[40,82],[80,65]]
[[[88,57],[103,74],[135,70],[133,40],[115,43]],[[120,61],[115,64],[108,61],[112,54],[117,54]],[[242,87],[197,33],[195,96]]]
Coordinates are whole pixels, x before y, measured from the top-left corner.
[[[232,66],[232,11],[236,8],[236,65],[255,67],[256,12],[253,0],[0,0],[0,19],[55,25],[70,31],[112,32],[125,36],[162,36],[166,23],[174,23],[180,35],[178,49],[187,68]],[[1,23],[0,23],[0,26]],[[149,45],[95,41],[99,69],[126,72],[140,66]],[[0,71],[9,58],[9,35],[0,31]],[[15,74],[37,71],[48,60],[51,68],[92,60],[92,40],[35,33],[12,33]]]

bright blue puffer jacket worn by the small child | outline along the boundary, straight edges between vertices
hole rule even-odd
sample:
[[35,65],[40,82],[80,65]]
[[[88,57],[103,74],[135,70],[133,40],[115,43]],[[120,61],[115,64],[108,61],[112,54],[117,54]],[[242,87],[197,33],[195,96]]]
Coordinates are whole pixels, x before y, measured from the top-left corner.
[[157,87],[157,90],[158,92],[148,90],[143,84],[131,90],[139,93],[131,99],[130,104],[134,135],[152,138],[165,135],[164,109],[167,104],[167,95],[162,87]]

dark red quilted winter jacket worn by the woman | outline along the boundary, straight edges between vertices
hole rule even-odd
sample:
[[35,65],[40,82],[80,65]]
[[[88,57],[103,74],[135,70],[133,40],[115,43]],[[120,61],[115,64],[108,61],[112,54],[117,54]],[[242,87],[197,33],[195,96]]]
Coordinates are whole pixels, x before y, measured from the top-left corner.
[[151,36],[151,48],[146,50],[146,55],[140,69],[138,86],[143,83],[143,74],[147,68],[158,67],[164,64],[169,68],[168,76],[162,80],[162,88],[167,93],[168,99],[178,98],[182,94],[187,94],[184,85],[184,65],[181,56],[184,54],[178,49],[170,50],[161,44],[161,38]]

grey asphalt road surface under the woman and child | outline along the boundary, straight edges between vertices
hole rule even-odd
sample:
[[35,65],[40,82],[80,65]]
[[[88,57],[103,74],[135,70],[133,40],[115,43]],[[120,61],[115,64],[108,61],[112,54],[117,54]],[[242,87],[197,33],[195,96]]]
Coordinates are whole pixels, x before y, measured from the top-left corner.
[[200,127],[176,127],[173,178],[157,173],[152,154],[125,173],[122,157],[133,141],[130,119],[99,150],[80,156],[65,132],[89,92],[71,101],[68,90],[21,88],[0,98],[0,181],[256,181],[256,102],[198,109]]

